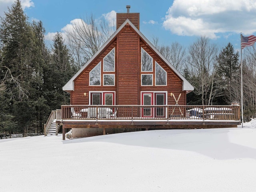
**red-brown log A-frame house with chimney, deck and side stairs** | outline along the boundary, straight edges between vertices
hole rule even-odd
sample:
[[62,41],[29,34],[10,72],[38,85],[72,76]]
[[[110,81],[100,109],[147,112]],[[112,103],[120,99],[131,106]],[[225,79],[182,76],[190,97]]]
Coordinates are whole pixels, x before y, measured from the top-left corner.
[[140,14],[129,8],[116,14],[116,32],[63,87],[70,105],[52,117],[63,139],[68,128],[79,138],[127,129],[236,127],[238,105],[186,106],[194,87],[140,32]]

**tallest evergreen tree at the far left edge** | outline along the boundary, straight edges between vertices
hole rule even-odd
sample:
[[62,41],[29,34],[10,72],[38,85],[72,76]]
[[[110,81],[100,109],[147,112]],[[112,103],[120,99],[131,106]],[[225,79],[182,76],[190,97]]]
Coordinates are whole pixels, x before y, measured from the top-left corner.
[[42,87],[42,57],[36,33],[28,23],[19,0],[1,18],[0,39],[1,79],[5,79],[10,114],[15,116],[16,130],[26,136],[28,128],[37,120],[35,103],[38,102]]

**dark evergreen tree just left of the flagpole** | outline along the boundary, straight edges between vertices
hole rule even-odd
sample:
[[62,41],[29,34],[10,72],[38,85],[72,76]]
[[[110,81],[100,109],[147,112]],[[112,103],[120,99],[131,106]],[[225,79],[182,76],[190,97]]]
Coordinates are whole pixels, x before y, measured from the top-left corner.
[[221,97],[222,104],[231,104],[234,100],[232,92],[234,87],[237,87],[237,77],[239,77],[239,53],[234,52],[234,47],[231,43],[223,48],[217,57],[217,75],[222,79],[224,84],[222,85],[222,91],[224,97]]

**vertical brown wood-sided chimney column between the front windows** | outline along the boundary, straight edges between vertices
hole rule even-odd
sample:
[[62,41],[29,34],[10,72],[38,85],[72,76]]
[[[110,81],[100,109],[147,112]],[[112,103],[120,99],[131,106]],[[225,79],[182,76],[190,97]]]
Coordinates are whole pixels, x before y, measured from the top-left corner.
[[118,105],[138,103],[138,34],[126,26],[118,36]]

